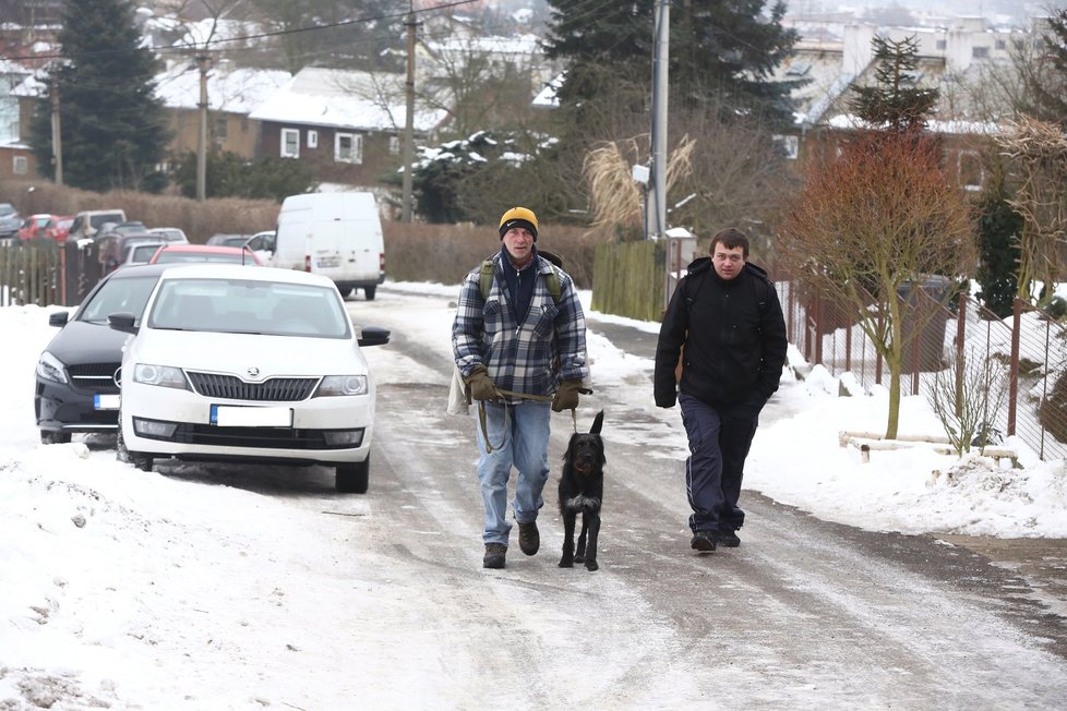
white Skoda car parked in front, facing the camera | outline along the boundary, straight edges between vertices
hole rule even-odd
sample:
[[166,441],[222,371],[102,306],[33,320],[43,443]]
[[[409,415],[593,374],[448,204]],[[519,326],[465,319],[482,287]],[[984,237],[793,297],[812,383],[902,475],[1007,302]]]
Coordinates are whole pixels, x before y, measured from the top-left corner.
[[190,265],[168,269],[122,354],[118,457],[268,461],[336,467],[341,492],[364,493],[374,381],[326,277],[290,269]]

